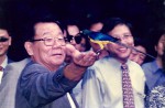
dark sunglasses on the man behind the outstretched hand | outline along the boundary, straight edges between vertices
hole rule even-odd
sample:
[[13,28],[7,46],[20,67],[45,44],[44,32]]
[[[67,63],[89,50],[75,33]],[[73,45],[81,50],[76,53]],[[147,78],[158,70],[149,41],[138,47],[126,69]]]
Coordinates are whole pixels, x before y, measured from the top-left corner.
[[81,33],[76,34],[75,36],[73,36],[73,35],[67,35],[67,41],[68,41],[68,42],[72,42],[72,40],[75,40],[75,42],[76,42],[77,44],[79,44],[79,43],[81,42],[81,39],[82,39]]

